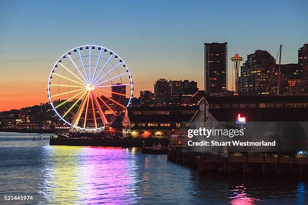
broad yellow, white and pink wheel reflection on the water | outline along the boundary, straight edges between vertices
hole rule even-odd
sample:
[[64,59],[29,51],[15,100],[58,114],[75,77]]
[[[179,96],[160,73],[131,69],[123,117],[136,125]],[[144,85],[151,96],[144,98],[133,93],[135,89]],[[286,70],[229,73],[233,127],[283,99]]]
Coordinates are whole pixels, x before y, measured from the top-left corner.
[[125,204],[138,199],[135,148],[55,146],[46,149],[53,160],[43,170],[42,189],[50,202]]

